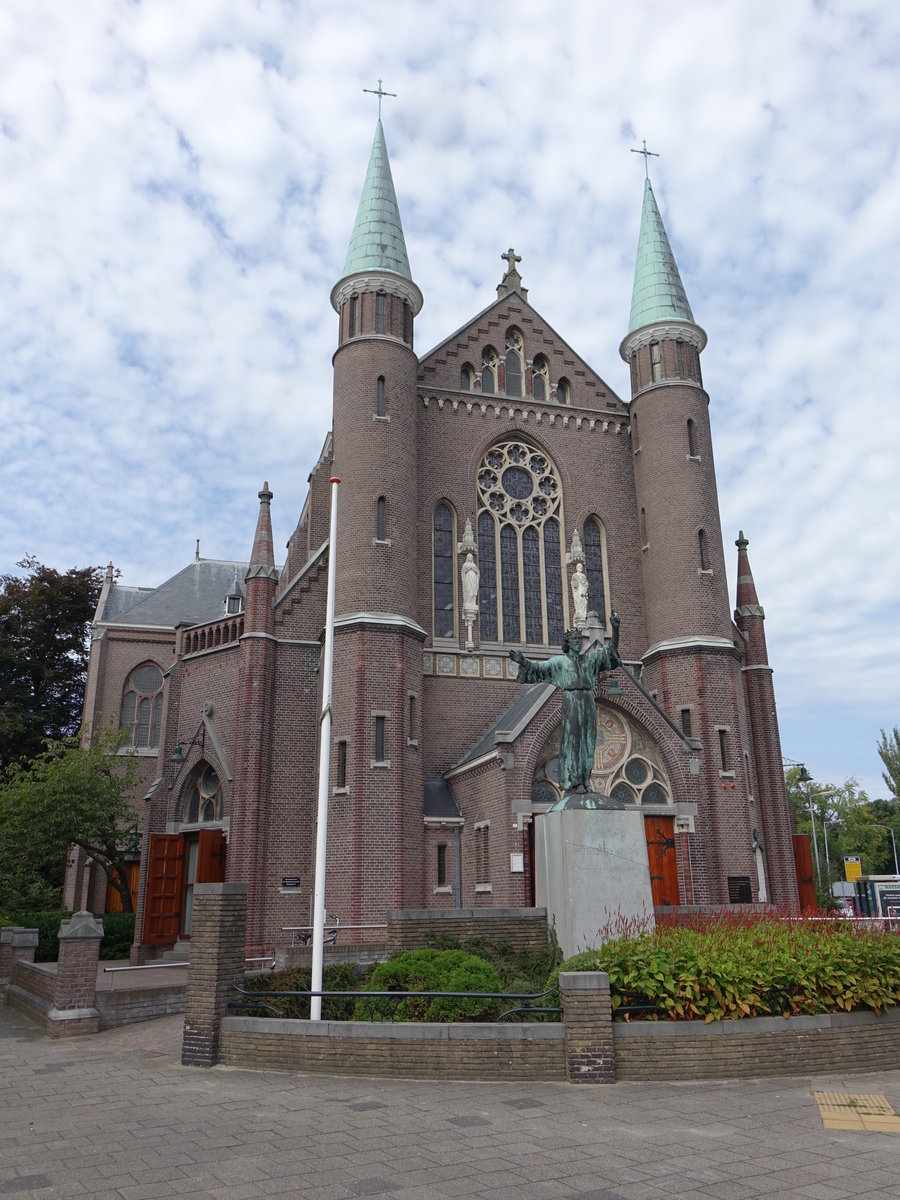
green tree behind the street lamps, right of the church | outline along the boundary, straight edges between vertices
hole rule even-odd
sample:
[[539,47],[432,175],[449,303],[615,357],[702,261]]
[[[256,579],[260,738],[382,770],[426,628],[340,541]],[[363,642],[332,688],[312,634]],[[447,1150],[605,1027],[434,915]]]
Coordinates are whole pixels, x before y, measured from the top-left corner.
[[874,824],[878,817],[856,779],[847,779],[844,784],[802,784],[799,775],[799,767],[790,767],[785,773],[787,794],[793,805],[798,833],[811,836],[815,820],[815,841],[824,898],[830,896],[832,883],[844,878],[846,856],[859,856],[863,875],[878,874],[884,851],[890,851],[890,835]]

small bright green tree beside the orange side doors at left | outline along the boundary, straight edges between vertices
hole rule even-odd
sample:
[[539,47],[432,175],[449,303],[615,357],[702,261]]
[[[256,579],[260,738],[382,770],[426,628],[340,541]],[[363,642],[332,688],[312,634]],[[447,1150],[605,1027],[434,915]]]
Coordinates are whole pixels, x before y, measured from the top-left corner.
[[0,908],[60,906],[66,857],[80,846],[109,876],[132,912],[126,860],[138,848],[133,804],[137,761],[106,730],[88,749],[52,742],[0,784]]

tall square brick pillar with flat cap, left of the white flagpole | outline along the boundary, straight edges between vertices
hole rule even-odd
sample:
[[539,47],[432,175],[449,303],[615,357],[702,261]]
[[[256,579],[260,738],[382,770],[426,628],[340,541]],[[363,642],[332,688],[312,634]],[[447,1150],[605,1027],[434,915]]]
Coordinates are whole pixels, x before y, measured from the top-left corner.
[[246,883],[194,886],[181,1042],[186,1067],[212,1067],[218,1061],[218,1033],[232,984],[244,978],[247,890]]

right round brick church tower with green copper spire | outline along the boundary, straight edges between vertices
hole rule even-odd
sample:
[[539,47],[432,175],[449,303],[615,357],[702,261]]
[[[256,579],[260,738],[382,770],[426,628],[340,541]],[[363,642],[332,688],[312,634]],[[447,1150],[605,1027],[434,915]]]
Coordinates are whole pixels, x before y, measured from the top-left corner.
[[[647,617],[644,682],[698,739],[695,893],[758,898],[749,719],[731,624],[709,397],[695,322],[649,178],[629,331],[631,449]],[[776,896],[775,899],[790,899]]]

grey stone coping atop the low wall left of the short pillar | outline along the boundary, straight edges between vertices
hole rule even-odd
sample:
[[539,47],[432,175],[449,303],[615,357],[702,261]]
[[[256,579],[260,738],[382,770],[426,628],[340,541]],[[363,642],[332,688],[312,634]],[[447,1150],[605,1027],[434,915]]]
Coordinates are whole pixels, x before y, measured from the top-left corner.
[[[437,1024],[425,1021],[304,1021],[276,1016],[226,1016],[230,1033],[265,1033],[294,1038],[366,1038],[394,1042],[562,1042],[559,1022]],[[487,1067],[487,1064],[486,1064]],[[490,1068],[487,1068],[490,1070]]]

